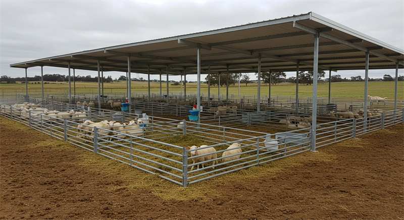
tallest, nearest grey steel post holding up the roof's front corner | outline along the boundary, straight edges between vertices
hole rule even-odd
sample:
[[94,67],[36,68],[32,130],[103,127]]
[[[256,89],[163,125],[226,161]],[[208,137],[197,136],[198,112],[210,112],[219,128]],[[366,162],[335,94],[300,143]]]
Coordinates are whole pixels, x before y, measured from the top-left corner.
[[313,64],[313,112],[312,112],[312,132],[311,137],[311,151],[316,151],[316,131],[317,131],[317,80],[319,68],[319,38],[320,31],[314,35],[314,64]]

